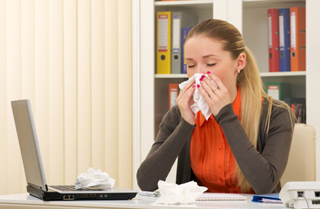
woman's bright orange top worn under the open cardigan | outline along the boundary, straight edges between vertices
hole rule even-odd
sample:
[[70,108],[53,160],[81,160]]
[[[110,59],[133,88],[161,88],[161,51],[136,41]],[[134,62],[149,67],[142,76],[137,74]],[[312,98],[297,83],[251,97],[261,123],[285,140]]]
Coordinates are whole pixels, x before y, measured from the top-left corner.
[[[232,107],[240,120],[240,88]],[[207,187],[207,192],[241,192],[237,186],[237,173],[234,173],[234,155],[213,115],[206,121],[205,116],[198,111],[191,138],[190,158],[197,182]]]

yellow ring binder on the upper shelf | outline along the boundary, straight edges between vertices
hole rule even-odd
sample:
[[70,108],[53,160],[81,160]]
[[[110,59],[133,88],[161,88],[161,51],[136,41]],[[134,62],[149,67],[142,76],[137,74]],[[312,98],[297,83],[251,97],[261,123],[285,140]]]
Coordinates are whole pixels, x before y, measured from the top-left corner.
[[157,13],[157,74],[171,73],[171,22],[171,12]]

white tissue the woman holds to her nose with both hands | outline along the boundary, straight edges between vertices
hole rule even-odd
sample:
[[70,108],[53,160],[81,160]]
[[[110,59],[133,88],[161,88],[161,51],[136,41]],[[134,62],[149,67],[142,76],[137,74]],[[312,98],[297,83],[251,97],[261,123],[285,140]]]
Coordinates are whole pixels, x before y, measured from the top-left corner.
[[[195,85],[200,84],[200,86],[202,86],[200,83],[200,78],[202,77],[202,75],[205,75],[205,77],[207,77],[209,80],[211,80],[211,82],[218,86],[207,74],[195,73],[186,82],[182,82],[181,84],[179,84],[179,88],[183,89],[184,86],[193,81],[193,79],[195,79]],[[207,102],[205,102],[205,98],[202,97],[198,88],[195,88],[195,91],[193,92],[193,103],[191,104],[190,109],[193,111],[195,116],[197,116],[197,112],[201,110],[207,121],[212,114]]]

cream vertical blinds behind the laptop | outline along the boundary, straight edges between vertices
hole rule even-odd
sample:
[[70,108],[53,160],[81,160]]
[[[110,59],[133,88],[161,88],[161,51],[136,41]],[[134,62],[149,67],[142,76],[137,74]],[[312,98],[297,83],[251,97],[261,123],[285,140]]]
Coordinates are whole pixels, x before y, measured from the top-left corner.
[[0,0],[0,194],[26,192],[11,100],[29,98],[47,183],[132,187],[131,1]]

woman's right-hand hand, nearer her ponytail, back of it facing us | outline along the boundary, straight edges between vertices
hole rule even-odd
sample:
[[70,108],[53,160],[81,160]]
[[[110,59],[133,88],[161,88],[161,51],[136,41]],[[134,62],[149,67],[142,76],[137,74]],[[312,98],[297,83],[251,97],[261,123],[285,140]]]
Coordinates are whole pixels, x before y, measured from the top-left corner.
[[197,86],[203,98],[207,102],[212,114],[216,116],[219,111],[225,107],[225,105],[231,103],[231,98],[229,91],[221,79],[216,77],[213,74],[208,74],[209,77],[218,85],[216,86],[213,82],[211,82],[207,77],[200,80],[202,86]]

